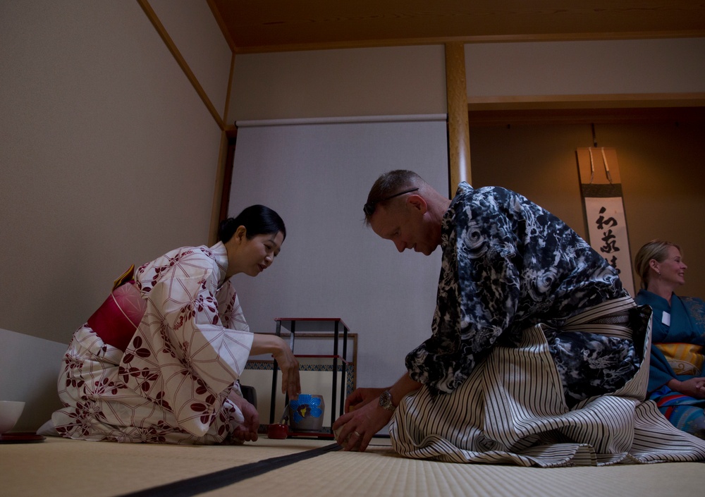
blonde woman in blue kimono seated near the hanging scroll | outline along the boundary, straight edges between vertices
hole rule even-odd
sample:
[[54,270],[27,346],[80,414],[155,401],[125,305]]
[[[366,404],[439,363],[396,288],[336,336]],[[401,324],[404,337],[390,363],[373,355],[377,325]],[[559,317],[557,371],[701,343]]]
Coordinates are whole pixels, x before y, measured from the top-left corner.
[[649,398],[675,427],[705,438],[705,302],[675,295],[687,266],[674,243],[647,243],[635,268],[642,278],[637,303],[654,309]]

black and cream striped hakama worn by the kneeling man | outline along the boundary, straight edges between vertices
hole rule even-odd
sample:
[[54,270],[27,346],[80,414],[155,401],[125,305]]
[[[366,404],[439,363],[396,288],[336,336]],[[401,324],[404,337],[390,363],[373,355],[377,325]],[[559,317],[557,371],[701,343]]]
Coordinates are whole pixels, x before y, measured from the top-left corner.
[[[634,307],[631,297],[604,302],[565,324],[612,336],[630,329],[593,324]],[[389,433],[409,458],[558,467],[705,460],[705,441],[673,427],[647,400],[651,324],[644,362],[618,391],[568,409],[541,324],[517,348],[496,346],[453,393],[428,388],[404,398]]]

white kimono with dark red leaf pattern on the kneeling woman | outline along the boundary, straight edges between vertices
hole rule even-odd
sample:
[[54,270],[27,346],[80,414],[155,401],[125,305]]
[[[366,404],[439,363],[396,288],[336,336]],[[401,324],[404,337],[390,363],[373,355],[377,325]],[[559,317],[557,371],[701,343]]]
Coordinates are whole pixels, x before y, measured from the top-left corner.
[[[240,394],[236,380],[253,336],[226,281],[227,266],[222,243],[182,247],[141,266],[134,283],[115,290],[111,297],[124,288],[137,296],[137,318],[118,304],[122,316],[113,311],[100,319],[106,304],[119,302],[109,297],[74,333],[59,375],[66,407],[51,418],[56,431],[119,442],[234,441],[243,414],[228,395]],[[124,318],[121,342],[109,328]]]

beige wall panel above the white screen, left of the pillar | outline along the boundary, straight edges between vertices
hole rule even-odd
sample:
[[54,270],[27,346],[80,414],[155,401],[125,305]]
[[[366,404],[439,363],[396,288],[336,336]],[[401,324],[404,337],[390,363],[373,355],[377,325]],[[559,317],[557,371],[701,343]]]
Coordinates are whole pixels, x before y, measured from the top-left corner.
[[238,55],[234,121],[446,112],[442,45]]

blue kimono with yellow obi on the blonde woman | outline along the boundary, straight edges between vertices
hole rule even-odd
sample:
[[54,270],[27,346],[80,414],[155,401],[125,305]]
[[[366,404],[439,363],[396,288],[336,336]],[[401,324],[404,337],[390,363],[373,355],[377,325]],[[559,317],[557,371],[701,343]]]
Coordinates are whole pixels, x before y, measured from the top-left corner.
[[668,305],[665,298],[647,290],[639,290],[636,301],[654,310],[649,398],[675,427],[705,438],[705,400],[666,385],[671,379],[685,381],[704,376],[705,302],[674,293]]

